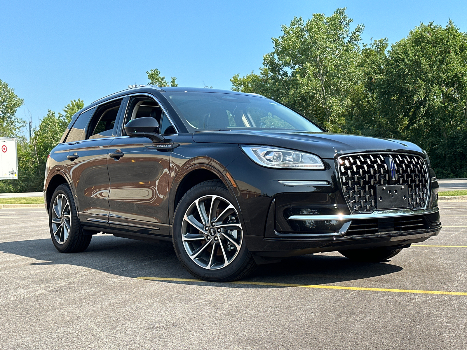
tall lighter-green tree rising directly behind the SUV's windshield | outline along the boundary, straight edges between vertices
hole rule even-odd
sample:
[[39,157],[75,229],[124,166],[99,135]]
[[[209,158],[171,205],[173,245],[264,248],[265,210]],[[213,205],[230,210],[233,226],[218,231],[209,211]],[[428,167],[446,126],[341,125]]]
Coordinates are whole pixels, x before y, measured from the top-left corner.
[[272,38],[260,74],[231,79],[234,91],[256,92],[289,105],[329,131],[340,131],[361,81],[363,25],[350,29],[345,8],[332,16],[295,17]]

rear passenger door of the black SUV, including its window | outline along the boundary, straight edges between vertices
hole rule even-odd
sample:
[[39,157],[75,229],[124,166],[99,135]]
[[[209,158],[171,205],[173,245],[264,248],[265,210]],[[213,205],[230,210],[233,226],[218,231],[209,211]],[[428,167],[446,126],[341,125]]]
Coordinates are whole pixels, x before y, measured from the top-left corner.
[[69,152],[64,167],[75,189],[80,221],[86,226],[108,227],[107,153],[122,102],[120,98],[83,112],[65,140]]

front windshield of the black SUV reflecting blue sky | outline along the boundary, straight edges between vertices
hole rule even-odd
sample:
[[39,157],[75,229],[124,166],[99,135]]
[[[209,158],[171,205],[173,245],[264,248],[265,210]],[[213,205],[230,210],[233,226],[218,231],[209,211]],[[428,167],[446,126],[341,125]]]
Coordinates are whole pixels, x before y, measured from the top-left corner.
[[286,129],[322,132],[291,109],[259,96],[218,92],[166,92],[187,129]]

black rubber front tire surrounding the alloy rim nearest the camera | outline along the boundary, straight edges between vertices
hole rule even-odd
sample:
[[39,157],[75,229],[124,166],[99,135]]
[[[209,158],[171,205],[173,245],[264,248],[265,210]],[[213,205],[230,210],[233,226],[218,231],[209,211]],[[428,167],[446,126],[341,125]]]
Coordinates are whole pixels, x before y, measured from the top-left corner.
[[[183,241],[182,241],[182,223],[183,217],[185,215],[186,210],[190,207],[191,203],[193,203],[196,199],[202,196],[209,196],[209,195],[216,195],[222,196],[227,199],[230,203],[233,204],[235,209],[238,212],[239,220],[242,225],[242,244],[240,247],[240,252],[235,257],[233,262],[231,262],[226,267],[222,267],[218,270],[207,270],[199,265],[197,265],[191,258],[188,256],[188,253],[185,251]],[[230,276],[235,275],[239,271],[241,271],[250,255],[248,248],[245,244],[245,224],[243,223],[243,219],[241,216],[241,211],[238,207],[237,200],[234,196],[232,196],[229,191],[224,187],[221,182],[216,183],[201,183],[192,189],[190,189],[184,197],[178,203],[177,209],[175,210],[173,227],[172,227],[172,240],[175,248],[175,252],[177,253],[178,259],[182,262],[185,268],[191,274],[203,279],[203,280],[228,280]]]

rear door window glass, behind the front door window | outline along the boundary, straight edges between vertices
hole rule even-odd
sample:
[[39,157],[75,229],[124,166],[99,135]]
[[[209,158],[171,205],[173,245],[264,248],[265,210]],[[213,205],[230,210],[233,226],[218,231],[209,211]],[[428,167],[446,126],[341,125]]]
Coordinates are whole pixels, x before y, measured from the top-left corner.
[[92,116],[87,129],[88,139],[100,139],[112,137],[115,120],[120,109],[122,100],[99,106]]

